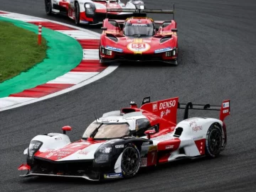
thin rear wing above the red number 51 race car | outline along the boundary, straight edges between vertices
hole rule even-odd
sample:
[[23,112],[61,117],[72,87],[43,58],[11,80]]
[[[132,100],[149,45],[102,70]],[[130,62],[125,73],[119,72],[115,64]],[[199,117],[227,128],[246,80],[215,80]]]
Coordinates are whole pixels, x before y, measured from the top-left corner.
[[[142,16],[146,17],[146,13],[167,13],[167,14],[173,14],[173,20],[174,20],[174,4],[173,9],[107,9],[107,13],[116,12],[116,13],[132,13],[133,16]],[[106,15],[107,17],[107,15]]]

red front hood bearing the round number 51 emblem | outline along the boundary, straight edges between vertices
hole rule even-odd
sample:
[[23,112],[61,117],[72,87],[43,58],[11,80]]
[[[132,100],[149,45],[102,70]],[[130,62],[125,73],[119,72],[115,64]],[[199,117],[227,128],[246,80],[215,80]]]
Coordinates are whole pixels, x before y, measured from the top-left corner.
[[176,46],[176,42],[173,38],[166,38],[164,43],[161,43],[161,38],[149,37],[149,38],[130,38],[122,37],[117,38],[117,42],[114,42],[110,38],[105,38],[105,48],[116,52],[124,52],[127,54],[134,54],[136,52],[142,54],[154,54],[160,52],[166,52],[172,50]]

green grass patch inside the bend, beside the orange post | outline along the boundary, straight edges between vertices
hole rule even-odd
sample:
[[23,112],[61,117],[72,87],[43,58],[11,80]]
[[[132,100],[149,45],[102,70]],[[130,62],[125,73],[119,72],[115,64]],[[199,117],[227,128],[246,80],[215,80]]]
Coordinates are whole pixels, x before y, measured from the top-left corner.
[[0,21],[0,83],[42,62],[46,49],[46,40],[38,45],[36,33]]

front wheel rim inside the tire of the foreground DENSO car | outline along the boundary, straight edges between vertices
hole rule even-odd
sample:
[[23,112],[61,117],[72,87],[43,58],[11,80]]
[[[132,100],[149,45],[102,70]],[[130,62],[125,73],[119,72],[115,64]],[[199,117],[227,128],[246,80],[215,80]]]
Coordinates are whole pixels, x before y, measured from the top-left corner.
[[139,166],[139,158],[137,150],[133,147],[127,147],[124,149],[123,155],[122,155],[122,169],[127,174],[133,174],[135,171],[137,171]]

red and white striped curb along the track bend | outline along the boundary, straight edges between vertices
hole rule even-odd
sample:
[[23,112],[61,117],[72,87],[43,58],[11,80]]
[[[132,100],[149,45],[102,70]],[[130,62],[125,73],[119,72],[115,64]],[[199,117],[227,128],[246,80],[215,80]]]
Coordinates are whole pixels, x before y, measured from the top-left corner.
[[50,28],[75,38],[78,40],[83,50],[82,61],[70,72],[57,77],[56,79],[52,79],[46,84],[41,84],[32,89],[26,89],[21,93],[11,94],[8,97],[0,98],[0,111],[25,106],[60,94],[65,94],[105,77],[118,67],[106,67],[100,64],[98,54],[98,45],[100,40],[99,33],[57,21],[50,21],[45,18],[26,16],[7,11],[0,11],[0,16],[35,25],[42,23],[42,26],[45,28]]

